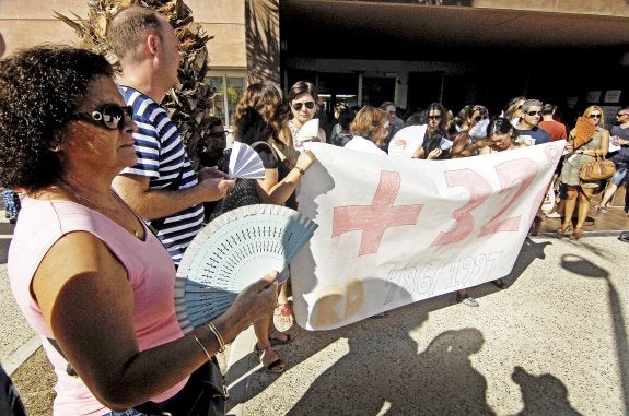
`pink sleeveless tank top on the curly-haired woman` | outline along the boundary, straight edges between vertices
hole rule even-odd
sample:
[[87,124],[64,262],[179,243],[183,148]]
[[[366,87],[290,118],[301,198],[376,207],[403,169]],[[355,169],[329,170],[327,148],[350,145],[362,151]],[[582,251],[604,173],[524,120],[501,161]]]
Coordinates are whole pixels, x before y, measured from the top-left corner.
[[[175,266],[158,238],[144,227],[139,240],[101,213],[68,201],[25,198],[9,250],[9,280],[22,312],[35,332],[53,338],[42,311],[31,296],[31,282],[49,248],[65,234],[88,231],[100,238],[127,269],[133,287],[133,324],[140,350],[177,340],[184,334],[175,312]],[[113,311],[115,312],[115,311]],[[66,373],[66,360],[42,340],[57,373],[55,415],[103,415],[103,406],[79,379]],[[178,392],[187,379],[152,397],[162,402]]]

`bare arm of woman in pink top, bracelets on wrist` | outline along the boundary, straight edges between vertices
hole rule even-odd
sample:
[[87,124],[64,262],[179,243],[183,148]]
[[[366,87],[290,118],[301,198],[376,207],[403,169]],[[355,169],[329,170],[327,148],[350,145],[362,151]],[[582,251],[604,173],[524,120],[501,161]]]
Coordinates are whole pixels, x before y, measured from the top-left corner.
[[[150,400],[208,359],[191,335],[139,350],[133,288],[126,269],[89,233],[60,238],[37,269],[32,289],[46,323],[81,380],[114,411]],[[228,343],[261,313],[272,310],[277,284],[269,276],[245,292],[238,296],[241,300],[213,320]],[[210,329],[201,326],[193,333],[209,354],[218,352]]]

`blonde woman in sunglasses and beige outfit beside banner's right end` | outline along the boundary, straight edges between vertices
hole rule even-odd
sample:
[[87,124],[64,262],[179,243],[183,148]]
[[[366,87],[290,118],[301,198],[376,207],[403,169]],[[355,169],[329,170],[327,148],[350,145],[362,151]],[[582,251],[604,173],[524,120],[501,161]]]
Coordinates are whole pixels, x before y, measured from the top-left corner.
[[571,240],[578,240],[583,236],[583,224],[590,212],[590,199],[594,190],[598,188],[598,180],[583,180],[580,178],[583,165],[596,159],[596,155],[605,157],[609,148],[609,131],[604,129],[605,116],[603,109],[598,106],[590,106],[583,111],[583,118],[590,119],[594,123],[594,134],[585,139],[585,143],[581,144],[583,140],[580,138],[579,127],[570,131],[567,146],[568,154],[563,159],[563,167],[559,177],[561,183],[567,186],[566,207],[563,223],[561,228],[557,230],[559,234],[564,234],[572,227],[572,214],[576,209],[576,201],[579,201],[579,209],[576,212],[576,224],[570,235]]

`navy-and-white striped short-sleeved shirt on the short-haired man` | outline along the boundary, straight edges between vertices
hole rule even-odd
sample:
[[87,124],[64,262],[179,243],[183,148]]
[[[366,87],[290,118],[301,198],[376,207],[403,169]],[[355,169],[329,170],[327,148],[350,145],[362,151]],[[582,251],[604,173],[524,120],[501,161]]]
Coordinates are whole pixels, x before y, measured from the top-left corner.
[[[177,189],[197,185],[198,178],[186,154],[184,141],[166,110],[137,90],[123,85],[119,90],[125,103],[133,107],[133,121],[138,124],[138,131],[133,133],[138,162],[121,174],[148,177],[149,189],[172,189],[177,181]],[[162,224],[155,224],[153,219],[158,238],[175,264],[182,261],[184,251],[201,229],[202,222],[203,204],[173,214]]]

